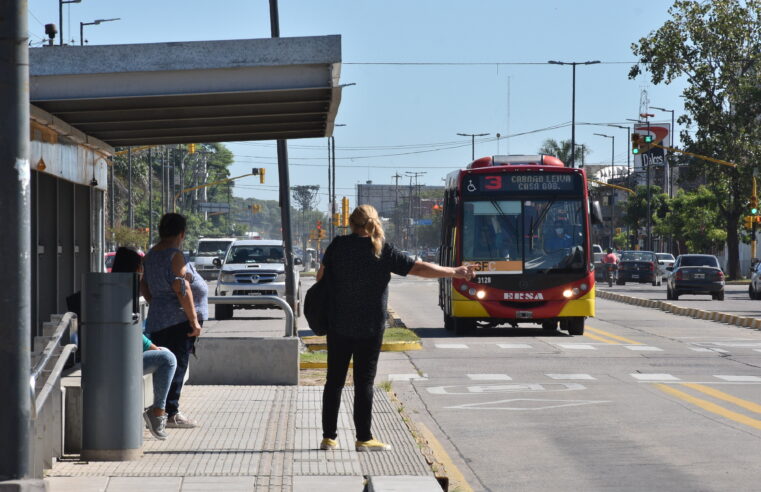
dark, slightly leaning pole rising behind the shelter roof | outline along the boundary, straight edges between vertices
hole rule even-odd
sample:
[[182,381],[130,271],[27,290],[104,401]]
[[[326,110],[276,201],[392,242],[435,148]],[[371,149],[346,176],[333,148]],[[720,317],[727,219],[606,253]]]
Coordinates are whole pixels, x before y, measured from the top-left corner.
[[[277,0],[270,0],[270,29],[273,38],[280,37]],[[333,158],[335,160],[335,155]],[[291,309],[296,311],[296,279],[293,275],[293,242],[291,241],[291,185],[288,175],[288,142],[282,139],[277,141],[277,170],[280,180],[280,220],[283,228],[283,245],[285,246],[285,299],[291,305]],[[335,182],[335,170],[333,173]],[[333,216],[331,215],[332,220]],[[292,329],[292,335],[295,335],[296,327],[293,326]]]

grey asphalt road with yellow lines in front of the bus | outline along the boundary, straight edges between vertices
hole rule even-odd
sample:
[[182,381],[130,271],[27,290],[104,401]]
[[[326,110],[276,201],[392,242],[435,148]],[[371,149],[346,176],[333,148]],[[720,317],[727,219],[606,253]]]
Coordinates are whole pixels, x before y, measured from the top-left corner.
[[[424,350],[384,354],[379,379],[475,490],[758,490],[758,331],[598,299],[583,337],[454,337],[436,286],[392,280],[390,304]],[[665,299],[665,287],[613,290]],[[755,304],[727,293],[678,302]]]

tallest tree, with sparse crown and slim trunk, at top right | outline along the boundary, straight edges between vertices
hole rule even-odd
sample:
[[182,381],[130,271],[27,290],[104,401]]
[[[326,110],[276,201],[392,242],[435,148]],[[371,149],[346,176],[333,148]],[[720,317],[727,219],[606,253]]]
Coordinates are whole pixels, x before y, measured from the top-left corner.
[[751,193],[751,176],[761,165],[761,0],[679,0],[671,19],[632,45],[653,84],[686,78],[682,92],[686,150],[737,164],[730,168],[694,161],[688,176],[700,175],[717,197],[726,226],[729,276],[739,277],[739,222]]

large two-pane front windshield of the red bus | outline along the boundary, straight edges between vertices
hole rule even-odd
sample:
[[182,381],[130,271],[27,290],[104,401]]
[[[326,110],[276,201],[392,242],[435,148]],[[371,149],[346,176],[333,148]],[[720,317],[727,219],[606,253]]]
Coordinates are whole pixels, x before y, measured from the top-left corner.
[[464,262],[489,262],[493,273],[578,271],[586,267],[580,199],[464,202]]

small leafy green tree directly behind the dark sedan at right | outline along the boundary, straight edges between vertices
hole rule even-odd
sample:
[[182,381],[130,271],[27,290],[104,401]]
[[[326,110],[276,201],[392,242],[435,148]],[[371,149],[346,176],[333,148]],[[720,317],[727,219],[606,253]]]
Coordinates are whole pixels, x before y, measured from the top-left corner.
[[705,186],[679,191],[670,201],[663,232],[678,238],[678,254],[717,253],[727,239],[720,200]]

